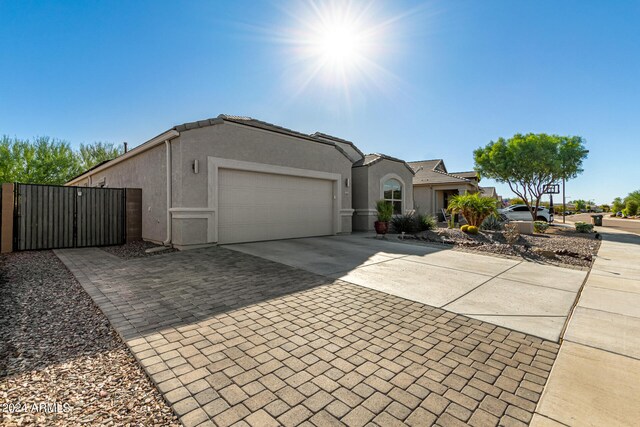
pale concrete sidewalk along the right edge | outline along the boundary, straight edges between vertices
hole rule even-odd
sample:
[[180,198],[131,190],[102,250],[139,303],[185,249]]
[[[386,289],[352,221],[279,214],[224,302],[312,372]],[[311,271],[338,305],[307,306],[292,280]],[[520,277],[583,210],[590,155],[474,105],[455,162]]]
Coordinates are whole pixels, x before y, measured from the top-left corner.
[[640,420],[640,236],[597,231],[602,246],[534,426],[632,426]]

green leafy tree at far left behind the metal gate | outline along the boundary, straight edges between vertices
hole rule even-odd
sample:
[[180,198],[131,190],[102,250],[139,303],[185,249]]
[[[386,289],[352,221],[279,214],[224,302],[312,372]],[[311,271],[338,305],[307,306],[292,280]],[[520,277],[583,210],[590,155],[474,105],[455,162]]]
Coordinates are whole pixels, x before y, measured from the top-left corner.
[[64,184],[79,172],[69,143],[48,136],[33,142],[3,136],[0,154],[0,182]]

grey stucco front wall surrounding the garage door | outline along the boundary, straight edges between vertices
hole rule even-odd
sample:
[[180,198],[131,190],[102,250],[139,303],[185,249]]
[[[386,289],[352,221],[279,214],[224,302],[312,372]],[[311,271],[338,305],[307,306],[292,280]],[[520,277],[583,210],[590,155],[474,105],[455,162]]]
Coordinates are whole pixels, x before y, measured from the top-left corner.
[[[350,233],[352,230],[353,190],[346,186],[347,179],[352,181],[352,163],[332,145],[224,123],[181,132],[179,151],[174,156],[174,165],[179,162],[176,170],[180,172],[174,172],[174,192],[177,196],[173,209],[186,208],[192,213],[174,215],[174,236],[178,245],[207,243],[207,221],[204,219],[209,219],[211,228],[215,215],[215,212],[204,212],[209,197],[210,157],[339,174],[339,190],[336,194],[340,198],[338,232]],[[193,171],[196,160],[198,173]],[[197,213],[194,211],[197,209],[202,211]]]

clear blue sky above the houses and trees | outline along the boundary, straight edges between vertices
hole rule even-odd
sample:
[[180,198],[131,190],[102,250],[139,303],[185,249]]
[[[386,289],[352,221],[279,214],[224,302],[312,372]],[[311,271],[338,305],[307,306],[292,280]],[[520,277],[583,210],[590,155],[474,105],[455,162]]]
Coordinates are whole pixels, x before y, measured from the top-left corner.
[[547,132],[591,151],[571,199],[640,189],[640,1],[351,3],[366,54],[339,80],[301,47],[335,4],[0,1],[0,133],[135,146],[228,113],[456,171]]

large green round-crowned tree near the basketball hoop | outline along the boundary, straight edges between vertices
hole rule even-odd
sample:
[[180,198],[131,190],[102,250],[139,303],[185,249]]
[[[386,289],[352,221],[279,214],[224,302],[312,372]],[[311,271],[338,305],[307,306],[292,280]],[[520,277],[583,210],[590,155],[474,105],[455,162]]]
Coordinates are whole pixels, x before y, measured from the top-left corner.
[[588,154],[583,144],[581,137],[544,133],[499,138],[473,152],[475,170],[481,176],[508,184],[535,221],[547,184],[582,172],[582,162]]

